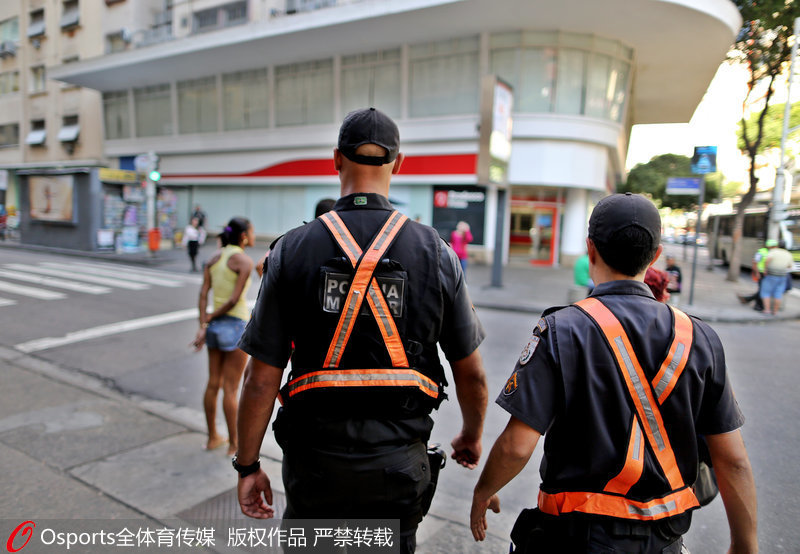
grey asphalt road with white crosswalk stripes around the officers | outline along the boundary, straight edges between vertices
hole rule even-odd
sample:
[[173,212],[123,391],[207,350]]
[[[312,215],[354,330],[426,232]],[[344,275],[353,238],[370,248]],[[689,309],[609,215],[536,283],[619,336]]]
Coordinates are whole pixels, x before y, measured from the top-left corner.
[[[72,276],[59,276],[59,271],[70,271]],[[43,277],[60,280],[62,285],[65,281],[85,282],[76,273],[93,276],[95,281],[111,279],[105,285],[94,283],[109,290],[90,293],[58,288],[52,282],[42,284]],[[29,276],[28,281],[24,275]],[[115,279],[117,286],[111,284]],[[138,283],[146,288],[120,288],[119,283]],[[20,286],[60,292],[62,296],[34,298],[29,296],[31,291],[22,293]],[[254,279],[248,298],[255,298],[257,287]],[[192,309],[198,290],[197,274],[0,250],[0,344],[27,349],[30,355],[61,367],[102,378],[126,393],[199,412],[206,358],[204,353],[194,353],[189,348],[196,329]],[[168,316],[156,317],[163,314]],[[479,315],[489,331],[481,352],[493,401],[538,316],[494,310],[481,310]],[[111,326],[120,322],[125,325]],[[800,519],[800,503],[796,500],[800,485],[794,475],[795,460],[800,454],[800,405],[796,402],[799,387],[795,374],[800,322],[718,324],[715,328],[726,348],[737,399],[747,417],[744,436],[759,491],[762,552],[800,551],[800,528],[796,525]],[[446,445],[460,428],[452,390],[451,396],[435,415],[433,440]],[[492,402],[486,422],[485,454],[507,419],[505,412]],[[519,510],[535,503],[540,454],[541,446],[525,471],[501,492],[503,512],[490,515],[492,534],[507,537]],[[432,511],[465,523],[477,477],[477,471],[448,464]],[[727,548],[727,523],[719,499],[695,514],[687,544],[694,553]]]

